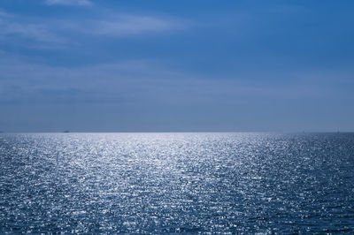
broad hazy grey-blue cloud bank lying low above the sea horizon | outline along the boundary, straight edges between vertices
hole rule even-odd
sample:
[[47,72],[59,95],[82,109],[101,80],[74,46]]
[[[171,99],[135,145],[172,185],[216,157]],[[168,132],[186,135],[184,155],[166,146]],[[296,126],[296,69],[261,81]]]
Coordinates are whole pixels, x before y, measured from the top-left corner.
[[[313,115],[321,112],[320,119],[327,113],[327,103],[336,109],[335,105],[341,102],[347,107],[353,102],[352,70],[346,75],[338,71],[296,72],[289,72],[289,80],[297,76],[304,80],[294,80],[289,86],[289,83],[273,84],[271,80],[266,83],[242,80],[237,76],[233,80],[205,78],[176,69],[167,61],[121,60],[64,67],[0,51],[0,110],[4,113],[0,125],[23,131],[21,128],[26,125],[21,123],[35,126],[31,118],[43,123],[58,117],[68,120],[69,127],[61,128],[73,130],[77,128],[75,123],[70,125],[73,120],[94,117],[88,126],[95,128],[103,123],[101,117],[112,117],[104,121],[110,128],[121,123],[121,127],[139,130],[144,128],[145,118],[150,118],[152,129],[168,120],[175,120],[175,124],[181,122],[183,128],[184,121],[193,127],[202,120],[206,130],[219,123],[225,123],[227,128],[237,123],[241,128],[254,130],[256,127],[250,122],[266,128],[274,125],[270,120],[278,122],[289,117],[293,126],[297,117],[309,115],[306,111],[316,110]],[[276,73],[254,74],[271,75]],[[336,87],[339,79],[345,77],[341,82],[348,88]],[[327,85],[323,83],[325,78]],[[352,112],[348,115],[352,117]],[[259,124],[263,121],[262,127]],[[41,125],[37,126],[42,128]],[[58,123],[53,121],[52,126],[58,127]],[[89,127],[81,128],[87,131]]]

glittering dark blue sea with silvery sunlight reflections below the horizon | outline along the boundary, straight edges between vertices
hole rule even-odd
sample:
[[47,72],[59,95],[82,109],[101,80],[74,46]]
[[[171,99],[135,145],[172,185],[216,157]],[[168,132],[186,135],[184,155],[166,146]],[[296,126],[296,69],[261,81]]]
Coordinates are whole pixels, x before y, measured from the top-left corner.
[[3,133],[6,232],[353,233],[354,133]]

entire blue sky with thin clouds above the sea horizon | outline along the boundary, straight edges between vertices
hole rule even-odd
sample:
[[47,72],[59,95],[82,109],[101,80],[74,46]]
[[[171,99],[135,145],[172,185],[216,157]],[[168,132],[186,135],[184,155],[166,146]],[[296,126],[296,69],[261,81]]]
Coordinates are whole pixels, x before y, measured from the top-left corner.
[[354,131],[353,10],[0,0],[0,131]]

